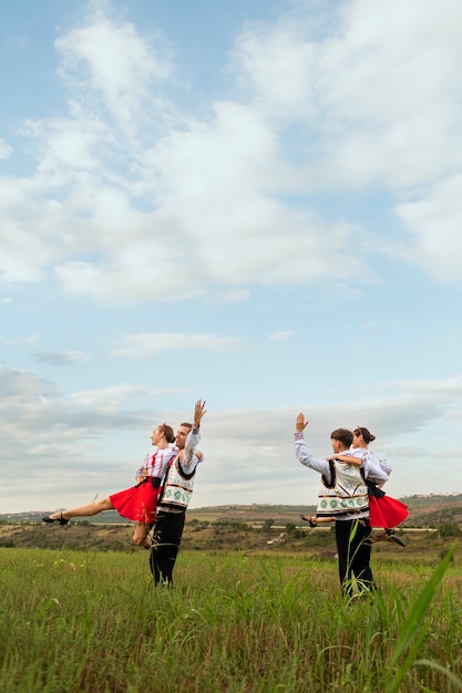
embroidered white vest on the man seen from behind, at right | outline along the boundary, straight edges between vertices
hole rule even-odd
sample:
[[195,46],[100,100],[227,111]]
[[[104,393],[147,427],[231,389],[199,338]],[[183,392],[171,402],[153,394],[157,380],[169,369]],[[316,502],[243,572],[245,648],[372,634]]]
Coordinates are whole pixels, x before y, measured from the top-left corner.
[[353,515],[369,510],[368,487],[362,469],[330,461],[330,479],[322,476],[317,517]]

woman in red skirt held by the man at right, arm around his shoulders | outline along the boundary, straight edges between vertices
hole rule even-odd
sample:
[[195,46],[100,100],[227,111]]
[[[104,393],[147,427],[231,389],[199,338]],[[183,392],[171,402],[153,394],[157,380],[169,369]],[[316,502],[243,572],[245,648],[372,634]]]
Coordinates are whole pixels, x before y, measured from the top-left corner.
[[[370,433],[365,426],[358,426],[353,431],[353,443],[351,455],[332,455],[329,459],[337,459],[345,464],[361,466],[367,458],[372,464],[379,466],[388,476],[391,474],[391,467],[386,459],[379,459],[374,453],[369,451],[369,443],[372,443],[376,436]],[[372,542],[376,541],[394,541],[400,546],[404,546],[404,542],[396,535],[393,527],[397,527],[408,517],[408,506],[387,496],[386,493],[377,484],[367,482],[369,492],[369,514],[371,527],[383,527],[384,531],[371,538]],[[309,523],[310,527],[316,527],[319,523],[329,523],[333,520],[333,517],[307,517],[301,516],[304,520]]]

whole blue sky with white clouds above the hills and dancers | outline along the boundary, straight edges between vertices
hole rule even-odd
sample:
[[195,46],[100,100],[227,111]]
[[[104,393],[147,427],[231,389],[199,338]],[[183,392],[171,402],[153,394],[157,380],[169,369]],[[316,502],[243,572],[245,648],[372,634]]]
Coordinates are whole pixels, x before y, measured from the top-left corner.
[[207,401],[193,507],[312,504],[369,427],[461,493],[456,0],[0,9],[0,511],[130,486]]

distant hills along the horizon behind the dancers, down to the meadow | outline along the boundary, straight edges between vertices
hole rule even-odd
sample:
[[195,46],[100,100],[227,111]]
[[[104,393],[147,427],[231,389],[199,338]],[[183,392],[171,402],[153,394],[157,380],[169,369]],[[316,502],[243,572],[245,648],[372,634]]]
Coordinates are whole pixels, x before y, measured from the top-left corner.
[[[409,518],[400,526],[407,556],[437,558],[453,539],[442,535],[445,526],[462,529],[462,494],[453,496],[410,496],[401,498],[409,506]],[[315,513],[315,506],[223,505],[192,508],[182,547],[206,550],[290,550],[310,551],[332,558],[335,541],[331,527],[310,529],[300,514]],[[0,515],[0,547],[91,549],[97,551],[134,551],[133,523],[107,510],[89,518],[74,518],[65,527],[42,521],[45,511]],[[440,531],[434,531],[440,529]],[[455,528],[456,529],[456,528]],[[427,531],[430,530],[430,531]],[[462,542],[462,536],[458,539]],[[400,556],[400,547],[388,542],[374,548],[390,559]]]

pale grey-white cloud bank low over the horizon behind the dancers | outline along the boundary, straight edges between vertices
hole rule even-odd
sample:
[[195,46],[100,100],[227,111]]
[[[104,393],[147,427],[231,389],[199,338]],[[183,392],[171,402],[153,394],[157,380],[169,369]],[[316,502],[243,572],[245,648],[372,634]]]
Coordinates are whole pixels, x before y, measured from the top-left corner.
[[[131,383],[64,396],[33,373],[0,365],[0,463],[6,488],[9,496],[22,497],[14,478],[27,473],[29,486],[38,494],[35,507],[75,505],[95,492],[129,486],[147,452],[146,432],[153,423],[166,420],[175,425],[184,418],[184,411],[160,412],[157,403],[165,402],[167,392]],[[314,503],[319,478],[297,463],[292,448],[294,422],[300,408],[310,421],[306,435],[315,455],[329,453],[335,427],[367,425],[377,435],[377,452],[394,468],[389,493],[415,493],[415,474],[423,468],[423,461],[434,469],[437,459],[453,459],[452,441],[458,438],[451,432],[460,430],[462,381],[376,383],[370,389],[371,396],[362,396],[368,389],[358,390],[356,401],[336,401],[328,406],[315,406],[305,399],[291,410],[211,410],[204,418],[201,447],[206,457],[194,505],[211,505],[211,497],[214,504],[218,498],[264,503],[275,497],[275,488],[287,503]],[[140,403],[145,408],[140,408]],[[417,444],[410,443],[414,433]],[[460,469],[455,466],[451,474],[458,487]],[[419,476],[419,488],[423,483],[434,489],[431,478]],[[8,506],[8,498],[2,503]],[[21,509],[25,506],[16,507]]]

